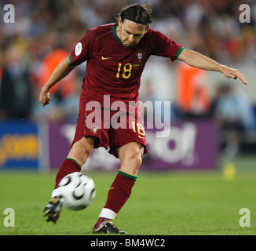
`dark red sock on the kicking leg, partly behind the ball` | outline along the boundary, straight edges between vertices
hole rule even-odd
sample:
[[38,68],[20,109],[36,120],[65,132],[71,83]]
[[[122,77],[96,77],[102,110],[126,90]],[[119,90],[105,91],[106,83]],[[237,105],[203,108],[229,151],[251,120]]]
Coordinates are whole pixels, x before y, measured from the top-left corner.
[[68,175],[69,173],[75,173],[80,171],[81,171],[81,166],[79,165],[78,162],[76,162],[72,158],[65,158],[64,162],[60,166],[59,172],[57,173],[55,188],[58,187],[60,180],[62,180],[64,176]]

